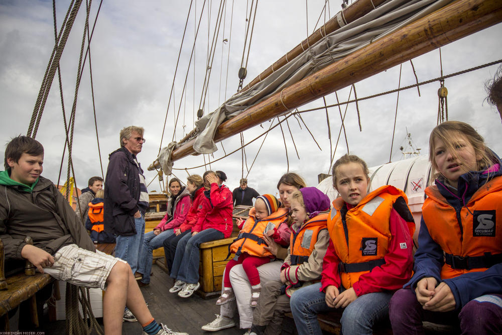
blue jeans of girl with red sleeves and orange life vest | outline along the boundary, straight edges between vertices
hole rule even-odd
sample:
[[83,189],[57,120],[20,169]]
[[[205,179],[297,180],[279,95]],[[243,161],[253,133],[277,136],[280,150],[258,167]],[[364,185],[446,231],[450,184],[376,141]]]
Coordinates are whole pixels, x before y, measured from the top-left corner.
[[[317,314],[334,308],[326,305],[321,283],[299,289],[291,295],[291,312],[299,335],[322,334]],[[389,315],[389,301],[394,292],[374,292],[357,297],[343,311],[340,323],[342,333],[372,334],[372,327]]]

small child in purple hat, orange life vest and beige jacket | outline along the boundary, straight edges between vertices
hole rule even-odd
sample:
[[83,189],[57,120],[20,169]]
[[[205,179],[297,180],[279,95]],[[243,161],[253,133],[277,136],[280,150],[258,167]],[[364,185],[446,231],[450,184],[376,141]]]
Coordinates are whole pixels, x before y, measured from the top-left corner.
[[263,293],[253,313],[250,333],[281,333],[284,313],[291,311],[290,296],[300,287],[318,281],[328,247],[329,198],[316,187],[304,187],[290,198],[291,242],[277,280],[263,285]]

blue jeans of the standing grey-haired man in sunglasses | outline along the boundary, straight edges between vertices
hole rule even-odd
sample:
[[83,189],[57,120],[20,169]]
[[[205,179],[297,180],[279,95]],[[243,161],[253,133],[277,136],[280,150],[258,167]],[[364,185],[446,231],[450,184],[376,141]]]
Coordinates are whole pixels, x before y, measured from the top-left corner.
[[140,253],[140,246],[143,245],[143,238],[145,236],[145,216],[134,218],[136,226],[136,235],[116,237],[115,257],[123,259],[129,263],[133,273],[138,270],[138,254]]

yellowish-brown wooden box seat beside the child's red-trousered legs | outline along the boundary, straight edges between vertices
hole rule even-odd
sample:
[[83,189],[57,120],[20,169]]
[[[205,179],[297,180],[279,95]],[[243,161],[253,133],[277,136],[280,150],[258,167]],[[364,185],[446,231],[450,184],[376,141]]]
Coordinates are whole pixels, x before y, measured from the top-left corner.
[[228,259],[226,258],[228,246],[232,244],[233,239],[233,237],[229,237],[200,245],[200,289],[197,293],[203,298],[221,293],[223,270],[225,270],[226,263],[233,257],[233,254],[231,254]]

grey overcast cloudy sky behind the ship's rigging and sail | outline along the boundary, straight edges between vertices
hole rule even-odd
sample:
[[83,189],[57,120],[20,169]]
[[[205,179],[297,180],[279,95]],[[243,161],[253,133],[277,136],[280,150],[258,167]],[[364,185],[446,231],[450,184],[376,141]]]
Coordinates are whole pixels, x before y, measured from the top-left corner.
[[[69,1],[56,1],[58,30],[68,10]],[[199,108],[207,57],[211,47],[219,2],[206,1],[199,35],[195,43],[194,61],[188,69],[194,44],[197,23],[203,1],[194,1],[190,12],[180,64],[174,82],[174,96],[168,108],[173,77],[183,37],[190,2],[105,1],[99,12],[91,42],[93,88],[98,124],[99,143],[104,173],[108,154],[118,148],[120,129],[129,125],[145,128],[147,139],[138,156],[146,167],[157,157],[167,115],[162,145],[173,139],[174,124],[179,110],[175,140],[180,140],[194,128],[193,120]],[[260,72],[306,38],[307,32],[335,15],[341,1],[328,1],[329,10],[322,14],[324,0],[282,0],[260,2],[256,14],[253,40],[250,45],[247,78],[244,85]],[[90,20],[94,22],[99,3],[92,2]],[[208,10],[208,5],[210,10]],[[216,39],[216,51],[211,66],[208,93],[204,103],[206,113],[216,109],[233,94],[238,85],[237,71],[244,47],[246,6],[250,2],[228,1],[223,9],[225,16]],[[233,8],[233,11],[232,11]],[[247,13],[249,9],[247,8]],[[85,3],[80,8],[67,46],[61,58],[63,96],[67,114],[73,104],[78,55],[85,21]],[[502,58],[500,35],[502,26],[496,25],[441,48],[444,74]],[[226,40],[226,41],[224,41]],[[0,123],[2,143],[28,130],[40,85],[54,47],[52,2],[35,0],[0,0],[0,101],[3,122]],[[195,66],[194,66],[195,64]],[[419,81],[440,76],[440,56],[435,50],[413,59]],[[76,101],[76,123],[73,140],[73,162],[77,185],[82,188],[90,176],[101,175],[99,154],[94,129],[90,93],[89,61],[85,63],[83,78]],[[228,70],[227,70],[228,69]],[[493,77],[497,65],[447,79],[448,112],[450,120],[470,123],[486,139],[488,145],[502,154],[500,133],[502,123],[496,110],[484,101],[484,82]],[[187,75],[188,73],[188,75]],[[358,97],[380,93],[398,87],[400,67],[391,68],[379,75],[356,83]],[[56,77],[57,78],[57,77]],[[184,93],[183,84],[187,78]],[[410,62],[402,66],[401,86],[414,83]],[[400,160],[399,147],[406,147],[406,130],[421,152],[427,154],[427,141],[437,122],[439,83],[402,91],[397,103],[397,93],[359,102],[362,132],[359,132],[355,106],[347,108],[345,128],[348,150],[365,159],[370,166]],[[337,92],[340,101],[349,97],[349,88]],[[184,94],[184,95],[182,95]],[[350,98],[353,97],[353,93]],[[336,103],[335,94],[326,96],[328,104]],[[180,103],[181,102],[181,103]],[[307,109],[322,105],[322,99],[300,107]],[[397,109],[394,146],[391,150],[394,115]],[[345,107],[342,108],[342,113]],[[290,131],[284,125],[289,171],[300,173],[309,185],[317,184],[317,175],[327,173],[330,166],[324,110],[302,115],[314,140],[299,121],[290,118],[289,126],[298,150],[298,159]],[[338,108],[329,109],[333,149],[340,129]],[[268,129],[262,124],[243,133],[250,141]],[[37,134],[45,147],[44,175],[54,182],[58,179],[64,147],[64,126],[61,98],[57,79],[53,83],[44,115]],[[288,169],[283,135],[280,128],[272,131],[251,168],[262,143],[258,140],[246,147],[243,175],[248,174],[249,186],[260,193],[276,193],[279,177]],[[200,166],[229,153],[240,145],[239,136],[218,144],[211,156],[189,156],[175,162],[174,174],[185,180],[188,168],[191,174],[204,172]],[[347,152],[345,138],[340,137],[335,158]],[[233,189],[242,174],[240,151],[210,165],[213,170],[223,170],[228,176],[227,185]],[[66,179],[66,160],[62,179]],[[209,168],[209,167],[208,167]],[[248,173],[248,169],[250,171]],[[147,182],[153,180],[149,191],[159,191],[155,172],[146,172]]]

